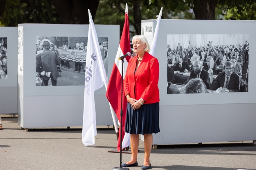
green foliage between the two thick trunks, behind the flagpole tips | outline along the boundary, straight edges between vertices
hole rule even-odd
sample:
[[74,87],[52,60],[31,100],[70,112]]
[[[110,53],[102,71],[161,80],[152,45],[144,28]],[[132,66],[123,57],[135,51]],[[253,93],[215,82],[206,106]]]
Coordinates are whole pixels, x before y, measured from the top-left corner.
[[[137,27],[134,17],[134,0],[100,0],[99,7],[94,18],[95,24],[119,24],[120,34],[125,22],[125,7],[128,5],[130,33],[135,35]],[[194,13],[188,5],[182,3],[182,8],[177,8],[172,11],[162,1],[143,0],[139,1],[141,19],[156,19],[161,7],[163,7],[162,19],[194,19]],[[138,29],[140,30],[140,28]]]

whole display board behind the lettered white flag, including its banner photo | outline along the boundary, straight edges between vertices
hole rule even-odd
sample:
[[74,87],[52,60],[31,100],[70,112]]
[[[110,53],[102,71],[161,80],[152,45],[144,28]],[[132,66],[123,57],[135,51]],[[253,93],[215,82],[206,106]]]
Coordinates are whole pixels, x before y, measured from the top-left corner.
[[[82,126],[85,80],[83,70],[88,29],[89,25],[75,24],[18,25],[18,39],[21,39],[22,35],[18,64],[21,68],[18,70],[18,122],[22,128]],[[119,45],[119,26],[95,25],[95,29],[109,78]],[[52,86],[51,78],[47,81],[48,86],[37,86],[36,58],[43,55],[40,43],[46,39],[53,45],[51,50],[56,46],[56,53],[62,60],[62,71],[56,80],[57,86]],[[105,87],[95,91],[97,125],[113,124],[105,95]]]

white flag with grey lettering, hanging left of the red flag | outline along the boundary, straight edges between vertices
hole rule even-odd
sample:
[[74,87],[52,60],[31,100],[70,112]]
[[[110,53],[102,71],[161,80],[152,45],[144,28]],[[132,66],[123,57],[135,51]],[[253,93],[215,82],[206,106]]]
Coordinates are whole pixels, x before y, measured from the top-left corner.
[[104,83],[107,82],[97,33],[90,10],[88,11],[90,24],[85,64],[84,114],[82,129],[82,142],[85,146],[94,144],[94,136],[97,135],[94,91],[103,87]]

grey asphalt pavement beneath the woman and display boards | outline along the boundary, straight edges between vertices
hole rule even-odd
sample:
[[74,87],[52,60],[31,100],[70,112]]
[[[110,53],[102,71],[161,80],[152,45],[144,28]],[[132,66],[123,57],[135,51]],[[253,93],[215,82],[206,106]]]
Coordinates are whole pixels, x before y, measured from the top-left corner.
[[[2,116],[4,116],[2,114]],[[100,127],[93,146],[82,144],[82,130],[71,127],[21,130],[17,118],[2,118],[0,170],[98,170],[120,165],[112,128]],[[138,164],[143,163],[140,141]],[[122,154],[123,162],[130,154]],[[161,145],[152,150],[150,161],[156,170],[237,170],[256,169],[256,147],[252,141]],[[130,170],[139,170],[130,167]]]

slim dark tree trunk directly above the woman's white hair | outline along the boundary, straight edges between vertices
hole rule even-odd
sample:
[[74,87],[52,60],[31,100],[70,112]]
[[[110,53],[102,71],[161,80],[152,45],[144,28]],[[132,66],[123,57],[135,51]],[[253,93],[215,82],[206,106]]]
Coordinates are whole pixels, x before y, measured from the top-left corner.
[[134,18],[134,27],[136,34],[141,34],[141,13],[140,13],[140,4],[138,1],[133,2],[133,18]]

